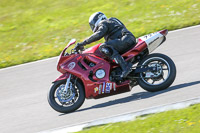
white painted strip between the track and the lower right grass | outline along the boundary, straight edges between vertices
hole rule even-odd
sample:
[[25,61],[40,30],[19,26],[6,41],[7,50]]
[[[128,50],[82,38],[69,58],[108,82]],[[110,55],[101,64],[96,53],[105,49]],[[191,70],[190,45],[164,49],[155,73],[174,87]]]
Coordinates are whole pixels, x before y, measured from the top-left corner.
[[174,110],[174,109],[182,109],[182,108],[185,108],[190,105],[197,104],[197,103],[200,103],[200,97],[189,99],[189,100],[182,101],[182,102],[151,107],[151,108],[139,110],[137,112],[129,112],[129,113],[120,114],[117,116],[112,116],[109,118],[93,120],[93,121],[89,121],[89,122],[85,122],[85,123],[80,123],[77,125],[55,128],[55,129],[51,129],[51,130],[47,130],[47,131],[42,131],[39,133],[78,132],[78,131],[83,130],[84,128],[88,128],[88,127],[92,127],[92,126],[103,125],[103,124],[108,124],[108,123],[115,123],[115,122],[122,122],[122,121],[130,121],[130,120],[134,120],[138,116],[159,113],[159,112],[164,112],[164,111],[169,111],[169,110]]

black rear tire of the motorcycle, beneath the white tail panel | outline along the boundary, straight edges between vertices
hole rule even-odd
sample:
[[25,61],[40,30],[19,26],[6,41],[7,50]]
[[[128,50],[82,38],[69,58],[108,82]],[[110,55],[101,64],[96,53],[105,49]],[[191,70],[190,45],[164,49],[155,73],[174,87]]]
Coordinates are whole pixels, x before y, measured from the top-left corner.
[[[148,65],[148,63],[150,64],[151,62],[153,62],[153,61],[155,62],[156,60],[158,60],[158,64],[159,64],[159,61],[163,62],[163,64],[167,66],[167,68],[165,68],[165,70],[168,70],[169,72],[168,72],[168,76],[166,79],[163,78],[163,75],[164,75],[163,68],[162,68],[162,71],[160,71],[160,74],[161,74],[161,72],[162,72],[162,74],[157,79],[155,79],[155,78],[152,78],[152,79],[146,78],[145,79],[146,73],[140,73],[139,74],[140,78],[137,79],[138,84],[144,90],[147,90],[149,92],[156,92],[156,91],[161,91],[161,90],[167,89],[174,82],[175,77],[176,77],[176,66],[175,66],[174,62],[168,56],[166,56],[164,54],[159,54],[159,53],[150,54],[147,57],[145,57],[141,62],[138,63],[138,67],[142,67],[141,65]],[[162,66],[161,64],[162,63],[160,63],[159,65]],[[155,81],[158,82],[159,79],[163,80],[163,82],[154,84]],[[149,83],[148,82],[149,80],[152,80],[153,84]]]

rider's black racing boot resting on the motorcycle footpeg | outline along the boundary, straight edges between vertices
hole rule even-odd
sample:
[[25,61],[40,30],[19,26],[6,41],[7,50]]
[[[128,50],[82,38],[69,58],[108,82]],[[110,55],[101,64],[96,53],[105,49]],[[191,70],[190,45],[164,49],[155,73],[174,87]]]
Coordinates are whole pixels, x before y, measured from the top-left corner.
[[126,62],[120,54],[115,54],[113,57],[115,62],[120,65],[122,69],[121,78],[125,78],[132,71],[132,63]]

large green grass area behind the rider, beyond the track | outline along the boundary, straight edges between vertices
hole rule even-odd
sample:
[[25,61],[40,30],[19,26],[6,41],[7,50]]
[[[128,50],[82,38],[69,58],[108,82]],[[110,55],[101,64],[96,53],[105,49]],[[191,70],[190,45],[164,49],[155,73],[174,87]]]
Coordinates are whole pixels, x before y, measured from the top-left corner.
[[92,34],[96,11],[119,18],[136,37],[200,24],[200,0],[1,0],[0,68],[59,55],[71,38]]

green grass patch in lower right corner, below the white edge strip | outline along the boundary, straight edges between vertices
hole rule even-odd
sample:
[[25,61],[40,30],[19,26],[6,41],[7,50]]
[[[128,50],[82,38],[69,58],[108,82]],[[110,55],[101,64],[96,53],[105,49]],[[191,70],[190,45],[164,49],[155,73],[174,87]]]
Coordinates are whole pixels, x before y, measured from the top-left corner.
[[200,104],[139,117],[135,121],[92,127],[79,133],[200,133]]

